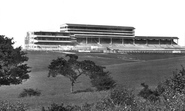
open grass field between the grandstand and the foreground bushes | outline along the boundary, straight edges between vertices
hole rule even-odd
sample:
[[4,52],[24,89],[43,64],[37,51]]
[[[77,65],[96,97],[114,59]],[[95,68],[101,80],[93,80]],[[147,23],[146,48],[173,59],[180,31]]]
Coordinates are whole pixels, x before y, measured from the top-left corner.
[[[21,101],[27,103],[33,109],[40,109],[41,106],[61,103],[82,104],[84,102],[94,102],[107,95],[107,91],[102,92],[82,92],[70,94],[70,81],[65,77],[48,78],[48,65],[52,59],[65,57],[63,53],[57,52],[28,52],[29,61],[32,67],[30,79],[21,85],[1,86],[0,99]],[[170,77],[174,70],[180,69],[180,65],[185,66],[185,55],[181,54],[96,54],[79,53],[79,60],[92,60],[99,65],[106,66],[106,70],[111,72],[111,76],[118,84],[126,85],[130,88],[140,90],[140,84],[146,82],[151,87]],[[74,90],[84,90],[90,88],[89,79],[86,76],[79,78]],[[18,98],[24,88],[41,90],[39,97]]]

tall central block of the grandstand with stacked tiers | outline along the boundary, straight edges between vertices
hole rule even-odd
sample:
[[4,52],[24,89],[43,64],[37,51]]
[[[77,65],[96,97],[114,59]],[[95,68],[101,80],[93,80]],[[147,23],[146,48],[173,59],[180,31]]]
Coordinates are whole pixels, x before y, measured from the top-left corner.
[[60,32],[70,33],[80,44],[120,44],[135,37],[135,28],[126,26],[64,24]]

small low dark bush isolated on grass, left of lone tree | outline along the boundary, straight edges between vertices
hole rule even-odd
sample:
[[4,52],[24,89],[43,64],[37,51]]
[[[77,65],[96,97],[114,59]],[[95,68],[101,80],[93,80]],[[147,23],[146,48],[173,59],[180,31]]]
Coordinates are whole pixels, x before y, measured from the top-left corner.
[[41,91],[38,89],[24,89],[20,94],[19,97],[27,97],[27,96],[40,96],[41,95]]

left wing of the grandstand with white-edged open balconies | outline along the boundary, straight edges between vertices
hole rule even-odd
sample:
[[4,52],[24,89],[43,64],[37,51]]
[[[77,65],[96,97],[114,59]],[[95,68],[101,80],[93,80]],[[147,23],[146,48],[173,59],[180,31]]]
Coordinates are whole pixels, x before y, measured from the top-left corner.
[[76,39],[64,32],[27,32],[25,48],[29,50],[63,50],[75,45]]

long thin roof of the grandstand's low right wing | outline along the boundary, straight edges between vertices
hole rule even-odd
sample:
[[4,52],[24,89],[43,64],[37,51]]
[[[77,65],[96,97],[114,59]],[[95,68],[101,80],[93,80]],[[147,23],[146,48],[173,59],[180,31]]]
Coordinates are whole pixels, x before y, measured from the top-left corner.
[[135,36],[136,39],[179,39],[178,37],[166,36]]

